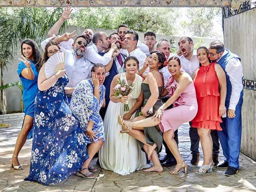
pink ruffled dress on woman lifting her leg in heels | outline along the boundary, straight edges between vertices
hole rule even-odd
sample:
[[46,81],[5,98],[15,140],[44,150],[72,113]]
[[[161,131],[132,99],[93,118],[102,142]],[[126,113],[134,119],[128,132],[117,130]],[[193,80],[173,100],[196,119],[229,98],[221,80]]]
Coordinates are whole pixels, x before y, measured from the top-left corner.
[[[178,82],[170,76],[166,82],[166,89],[171,97],[178,87]],[[162,132],[170,129],[176,131],[182,123],[190,122],[197,113],[196,90],[194,83],[190,83],[182,94],[172,103],[173,108],[164,110],[159,124]]]

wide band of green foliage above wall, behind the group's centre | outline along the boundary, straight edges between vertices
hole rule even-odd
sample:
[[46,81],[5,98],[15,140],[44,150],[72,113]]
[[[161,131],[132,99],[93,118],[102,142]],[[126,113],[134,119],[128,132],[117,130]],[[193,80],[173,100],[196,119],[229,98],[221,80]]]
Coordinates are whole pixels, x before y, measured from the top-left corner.
[[128,24],[130,29],[160,34],[175,34],[179,17],[175,8],[79,8],[72,14],[69,24],[84,28],[116,29]]

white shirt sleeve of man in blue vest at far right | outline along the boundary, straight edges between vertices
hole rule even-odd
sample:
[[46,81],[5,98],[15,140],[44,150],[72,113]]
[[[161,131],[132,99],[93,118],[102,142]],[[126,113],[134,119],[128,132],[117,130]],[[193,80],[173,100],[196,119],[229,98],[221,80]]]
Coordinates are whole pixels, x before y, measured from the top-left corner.
[[243,83],[242,83],[242,77],[243,77],[243,68],[241,62],[238,60],[238,58],[232,58],[228,61],[225,68],[229,80],[232,85],[232,91],[230,96],[230,102],[228,109],[235,110],[236,105],[238,104],[240,93],[243,90]]

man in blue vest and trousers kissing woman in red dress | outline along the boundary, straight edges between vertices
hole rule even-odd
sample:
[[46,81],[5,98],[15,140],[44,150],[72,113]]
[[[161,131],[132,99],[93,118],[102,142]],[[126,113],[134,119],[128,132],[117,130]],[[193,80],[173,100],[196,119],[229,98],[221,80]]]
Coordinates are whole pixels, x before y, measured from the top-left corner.
[[224,44],[214,40],[209,46],[209,59],[217,61],[226,74],[227,95],[225,106],[228,109],[227,117],[222,118],[220,124],[222,131],[218,131],[223,155],[226,160],[216,166],[217,168],[228,168],[227,176],[233,176],[239,169],[239,153],[242,135],[241,110],[243,104],[243,68],[241,59],[225,49]]

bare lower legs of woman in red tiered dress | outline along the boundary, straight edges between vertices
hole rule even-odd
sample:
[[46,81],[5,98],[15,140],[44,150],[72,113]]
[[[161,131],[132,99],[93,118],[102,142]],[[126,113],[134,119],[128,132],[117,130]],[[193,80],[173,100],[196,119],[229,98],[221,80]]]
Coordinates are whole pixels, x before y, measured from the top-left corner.
[[[198,135],[200,137],[200,142],[202,145],[202,150],[204,153],[203,165],[209,165],[212,161],[212,136],[211,130],[205,128],[197,128]],[[207,169],[203,169],[206,171]]]

